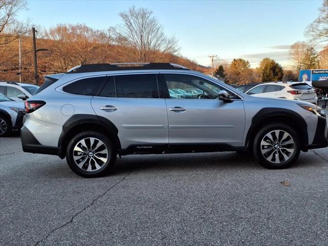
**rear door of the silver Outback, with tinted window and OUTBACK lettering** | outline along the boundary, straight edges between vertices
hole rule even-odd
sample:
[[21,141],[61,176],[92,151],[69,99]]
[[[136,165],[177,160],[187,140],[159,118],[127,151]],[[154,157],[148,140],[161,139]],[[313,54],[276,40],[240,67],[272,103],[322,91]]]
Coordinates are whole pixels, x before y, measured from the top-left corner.
[[169,144],[166,102],[159,97],[156,73],[109,76],[91,104],[117,127],[123,149],[152,151]]

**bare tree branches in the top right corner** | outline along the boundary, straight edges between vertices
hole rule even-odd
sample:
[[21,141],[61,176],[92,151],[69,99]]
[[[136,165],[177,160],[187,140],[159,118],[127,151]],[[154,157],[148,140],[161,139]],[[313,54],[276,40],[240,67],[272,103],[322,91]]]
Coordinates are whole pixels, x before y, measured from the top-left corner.
[[328,0],[323,0],[319,17],[306,29],[305,35],[313,44],[328,42]]

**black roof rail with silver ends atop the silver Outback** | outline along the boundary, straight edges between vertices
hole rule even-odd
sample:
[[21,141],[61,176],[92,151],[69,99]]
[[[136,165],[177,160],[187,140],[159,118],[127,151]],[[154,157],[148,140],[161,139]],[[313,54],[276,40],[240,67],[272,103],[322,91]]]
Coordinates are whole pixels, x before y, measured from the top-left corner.
[[66,73],[87,73],[100,71],[121,71],[121,70],[153,70],[153,69],[171,69],[171,70],[189,70],[178,64],[171,63],[114,63],[114,64],[86,64],[71,68]]

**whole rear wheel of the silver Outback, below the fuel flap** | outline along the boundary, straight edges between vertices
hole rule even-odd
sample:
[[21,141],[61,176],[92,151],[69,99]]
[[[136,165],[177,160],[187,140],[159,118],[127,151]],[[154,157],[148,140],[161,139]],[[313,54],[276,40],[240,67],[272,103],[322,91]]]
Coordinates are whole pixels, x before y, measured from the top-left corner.
[[83,177],[107,174],[116,160],[116,150],[104,134],[86,131],[68,144],[66,159],[72,171]]

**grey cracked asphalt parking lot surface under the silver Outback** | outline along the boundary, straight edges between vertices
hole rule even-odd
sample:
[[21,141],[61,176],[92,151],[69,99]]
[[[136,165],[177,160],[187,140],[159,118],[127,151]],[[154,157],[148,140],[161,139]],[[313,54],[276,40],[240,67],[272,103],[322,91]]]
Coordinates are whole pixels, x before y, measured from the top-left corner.
[[[124,156],[107,177],[0,138],[1,245],[327,245],[328,149]],[[284,182],[283,182],[284,181]]]

